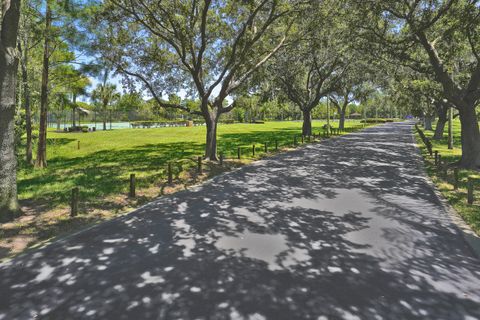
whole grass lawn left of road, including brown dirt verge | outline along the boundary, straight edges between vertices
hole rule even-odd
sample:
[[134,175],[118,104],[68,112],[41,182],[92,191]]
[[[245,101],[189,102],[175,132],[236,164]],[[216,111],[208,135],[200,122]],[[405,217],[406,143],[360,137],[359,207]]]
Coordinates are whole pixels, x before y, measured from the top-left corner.
[[[323,132],[324,122],[314,121],[314,132]],[[332,123],[334,127],[337,123]],[[347,128],[362,128],[359,121],[347,121]],[[88,133],[48,133],[45,169],[21,163],[18,192],[23,215],[0,225],[0,259],[28,247],[110,219],[153,200],[181,190],[218,173],[291,148],[294,137],[301,142],[302,122],[225,124],[218,127],[218,149],[226,157],[223,166],[204,163],[204,173],[195,171],[203,155],[205,127],[119,129]],[[78,149],[80,141],[80,149]],[[252,145],[256,145],[255,157]],[[237,160],[241,147],[242,159]],[[19,157],[23,159],[23,155]],[[171,162],[174,183],[167,184],[166,168]],[[136,174],[137,194],[127,196],[130,173]],[[70,217],[71,189],[80,189],[80,212]]]

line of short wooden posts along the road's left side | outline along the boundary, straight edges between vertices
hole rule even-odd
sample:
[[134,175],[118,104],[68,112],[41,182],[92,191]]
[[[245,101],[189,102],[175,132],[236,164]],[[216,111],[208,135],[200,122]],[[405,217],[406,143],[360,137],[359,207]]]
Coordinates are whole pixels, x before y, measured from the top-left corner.
[[[300,143],[303,144],[305,142],[307,143],[310,143],[310,142],[314,142],[315,139],[321,139],[322,137],[323,138],[329,138],[331,136],[338,136],[340,135],[341,133],[350,133],[350,132],[353,132],[353,131],[356,131],[358,129],[362,129],[362,127],[352,127],[352,128],[345,128],[345,129],[339,129],[339,128],[330,128],[330,130],[328,130],[327,128],[324,128],[323,129],[323,132],[322,133],[318,133],[318,135],[315,135],[315,133],[311,136],[304,136],[304,135],[301,135],[300,136]],[[296,147],[298,145],[298,140],[297,140],[297,135],[294,135],[293,136],[293,146]],[[264,143],[264,152],[265,153],[268,153],[268,142],[265,142]],[[278,151],[278,148],[279,148],[279,144],[278,144],[278,140],[275,140],[274,141],[274,150],[275,151]],[[77,143],[77,149],[80,150],[80,141],[78,141]],[[255,144],[252,145],[252,157],[255,157],[255,152],[257,150],[257,146]],[[237,147],[237,154],[236,154],[236,158],[238,160],[240,160],[242,158],[242,147]],[[223,162],[225,160],[225,155],[221,152],[220,155],[219,155],[219,165],[220,166],[223,166]],[[172,169],[172,162],[168,162],[167,163],[167,183],[168,184],[172,184],[173,183],[173,169]],[[197,174],[198,175],[201,175],[203,174],[203,157],[202,156],[199,156],[197,157],[196,159],[196,171],[197,171]],[[136,177],[135,177],[135,174],[134,173],[131,173],[130,174],[130,179],[129,179],[129,192],[128,192],[128,196],[130,198],[134,198],[135,195],[136,195]],[[78,214],[78,203],[79,203],[79,200],[80,200],[80,195],[79,195],[79,188],[78,187],[74,187],[72,189],[72,195],[71,195],[71,201],[70,201],[70,216],[74,217]]]

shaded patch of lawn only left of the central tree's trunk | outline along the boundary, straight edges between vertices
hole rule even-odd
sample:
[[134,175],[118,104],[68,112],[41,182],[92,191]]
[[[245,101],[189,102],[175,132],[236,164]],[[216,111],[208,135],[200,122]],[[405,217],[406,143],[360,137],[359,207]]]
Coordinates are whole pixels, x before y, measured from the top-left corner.
[[[129,173],[137,174],[139,187],[152,185],[164,178],[168,161],[192,158],[201,145],[149,144],[127,150],[104,150],[84,157],[57,157],[38,175],[18,182],[20,193],[33,193],[47,200],[51,207],[68,203],[70,190],[80,187],[84,200],[125,192]],[[192,161],[193,163],[193,161]],[[185,166],[185,164],[184,164]],[[179,166],[174,166],[178,175]]]

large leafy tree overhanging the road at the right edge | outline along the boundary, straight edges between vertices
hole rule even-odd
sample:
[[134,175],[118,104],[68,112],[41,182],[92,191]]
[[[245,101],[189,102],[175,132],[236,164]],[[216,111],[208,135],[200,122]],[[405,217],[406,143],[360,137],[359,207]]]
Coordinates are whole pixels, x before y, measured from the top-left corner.
[[[356,0],[355,31],[372,55],[399,63],[441,86],[458,110],[464,168],[480,168],[480,5],[476,0]],[[433,97],[432,97],[433,98]]]

